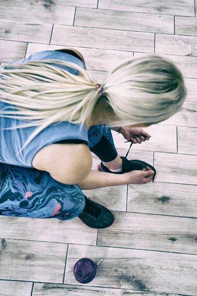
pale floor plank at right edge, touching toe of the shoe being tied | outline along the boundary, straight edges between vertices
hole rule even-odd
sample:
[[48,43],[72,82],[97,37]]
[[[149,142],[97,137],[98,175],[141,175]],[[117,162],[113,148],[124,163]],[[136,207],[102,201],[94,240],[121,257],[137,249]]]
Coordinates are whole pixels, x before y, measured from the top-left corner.
[[155,152],[156,181],[197,185],[197,156]]

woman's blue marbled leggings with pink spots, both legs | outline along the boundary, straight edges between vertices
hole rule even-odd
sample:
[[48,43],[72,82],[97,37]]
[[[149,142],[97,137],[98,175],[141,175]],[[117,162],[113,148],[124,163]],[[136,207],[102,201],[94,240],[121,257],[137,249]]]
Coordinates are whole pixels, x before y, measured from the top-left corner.
[[[118,155],[108,124],[91,126],[88,138],[90,150],[102,161]],[[84,206],[84,194],[77,185],[62,184],[45,171],[0,164],[0,215],[70,220]]]

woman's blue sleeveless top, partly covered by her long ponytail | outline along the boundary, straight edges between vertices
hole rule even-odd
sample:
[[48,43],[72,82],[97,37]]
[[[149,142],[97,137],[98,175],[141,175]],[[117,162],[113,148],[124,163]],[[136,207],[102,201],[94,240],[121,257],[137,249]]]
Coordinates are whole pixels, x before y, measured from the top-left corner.
[[[86,69],[85,64],[80,59],[68,53],[54,50],[34,53],[28,58],[25,58],[21,61],[8,63],[1,68],[9,69],[9,65],[11,64],[13,65],[18,63],[25,63],[26,61],[30,60],[68,61]],[[78,75],[78,72],[74,69],[56,65],[55,63],[53,65],[65,69],[72,74]],[[14,107],[10,104],[0,102],[0,110],[3,110],[5,108],[6,110],[13,110]],[[83,125],[82,131],[80,131],[79,124],[71,124],[68,121],[64,121],[51,124],[47,128],[43,129],[37,136],[35,136],[35,138],[28,144],[28,146],[18,154],[18,151],[23,147],[33,131],[37,129],[37,126],[18,128],[13,130],[6,130],[4,128],[17,126],[24,123],[27,123],[27,121],[0,116],[0,162],[33,168],[32,161],[34,155],[41,148],[47,145],[68,139],[83,140],[87,145],[89,145],[88,130],[85,124]]]

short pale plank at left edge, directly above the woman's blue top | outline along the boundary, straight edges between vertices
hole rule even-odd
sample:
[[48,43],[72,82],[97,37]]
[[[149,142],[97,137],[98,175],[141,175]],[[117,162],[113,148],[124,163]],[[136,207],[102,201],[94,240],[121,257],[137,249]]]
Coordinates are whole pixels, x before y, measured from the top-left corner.
[[23,59],[26,48],[26,42],[0,40],[0,59],[3,62]]

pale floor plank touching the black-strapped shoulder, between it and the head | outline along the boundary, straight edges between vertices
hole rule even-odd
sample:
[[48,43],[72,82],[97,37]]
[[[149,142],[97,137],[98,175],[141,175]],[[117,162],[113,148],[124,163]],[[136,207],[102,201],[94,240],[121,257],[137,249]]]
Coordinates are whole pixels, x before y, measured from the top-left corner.
[[[29,43],[26,56],[29,56],[36,51],[56,50],[66,47],[69,46]],[[120,50],[95,49],[76,46],[74,46],[74,48],[83,55],[88,70],[109,71],[122,61],[132,59],[133,55],[132,52]]]

